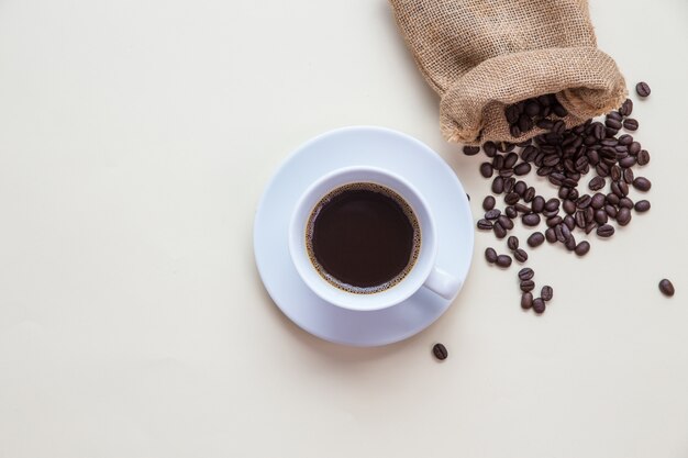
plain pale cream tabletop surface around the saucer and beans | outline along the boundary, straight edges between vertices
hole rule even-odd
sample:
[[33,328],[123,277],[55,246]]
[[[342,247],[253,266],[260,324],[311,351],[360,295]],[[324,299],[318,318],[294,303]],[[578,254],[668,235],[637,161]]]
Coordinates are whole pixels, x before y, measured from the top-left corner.
[[688,457],[688,3],[591,11],[653,89],[651,212],[585,259],[533,252],[541,317],[478,234],[436,324],[355,349],[297,328],[255,270],[285,156],[385,125],[441,153],[476,216],[488,190],[385,1],[0,1],[0,457]]

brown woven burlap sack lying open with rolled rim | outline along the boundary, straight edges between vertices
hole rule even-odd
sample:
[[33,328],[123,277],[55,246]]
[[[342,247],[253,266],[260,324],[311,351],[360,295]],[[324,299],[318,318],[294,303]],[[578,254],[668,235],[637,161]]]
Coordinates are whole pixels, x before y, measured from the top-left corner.
[[567,126],[617,109],[626,90],[597,48],[587,0],[390,0],[401,34],[440,94],[450,142],[520,142],[504,107],[556,93]]

